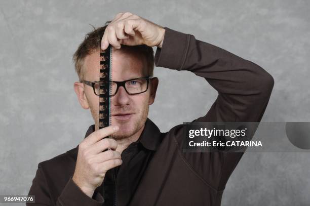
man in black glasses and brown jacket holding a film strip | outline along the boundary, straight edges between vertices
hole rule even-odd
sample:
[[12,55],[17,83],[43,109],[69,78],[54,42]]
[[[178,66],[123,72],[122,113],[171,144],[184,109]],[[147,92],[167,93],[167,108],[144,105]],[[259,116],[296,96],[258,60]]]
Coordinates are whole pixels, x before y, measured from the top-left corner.
[[[113,46],[112,79],[126,83],[113,83],[111,126],[98,130],[99,97],[90,82],[99,79],[100,44]],[[193,35],[119,13],[107,27],[91,32],[74,54],[80,78],[74,90],[95,125],[76,148],[38,164],[29,191],[34,205],[220,205],[243,153],[182,152],[183,125],[161,133],[147,118],[159,82],[149,78],[149,47],[157,47],[157,66],[191,71],[217,90],[210,110],[194,121],[261,120],[274,86],[264,69]]]

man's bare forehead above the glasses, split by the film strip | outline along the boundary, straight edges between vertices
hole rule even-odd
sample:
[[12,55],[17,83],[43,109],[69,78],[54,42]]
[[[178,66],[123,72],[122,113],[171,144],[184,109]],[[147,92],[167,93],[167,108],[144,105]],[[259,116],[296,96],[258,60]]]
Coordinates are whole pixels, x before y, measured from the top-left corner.
[[[99,80],[99,51],[93,52],[85,58],[85,79],[89,81]],[[112,79],[122,81],[135,77],[142,77],[146,69],[146,60],[139,54],[129,52],[112,52]]]

